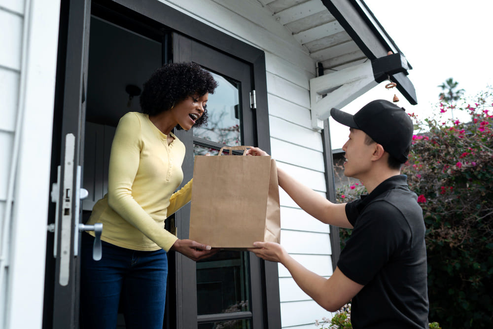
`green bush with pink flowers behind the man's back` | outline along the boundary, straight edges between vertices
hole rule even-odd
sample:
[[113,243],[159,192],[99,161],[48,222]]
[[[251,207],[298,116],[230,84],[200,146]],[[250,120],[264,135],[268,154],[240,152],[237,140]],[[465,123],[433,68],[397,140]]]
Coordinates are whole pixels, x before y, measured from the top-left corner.
[[[429,318],[446,328],[493,328],[493,91],[467,106],[439,103],[403,168],[426,226]],[[471,120],[444,120],[466,111]],[[354,193],[356,192],[356,193]],[[350,186],[338,201],[358,195]],[[344,195],[344,197],[343,197]],[[341,229],[341,247],[350,231]]]

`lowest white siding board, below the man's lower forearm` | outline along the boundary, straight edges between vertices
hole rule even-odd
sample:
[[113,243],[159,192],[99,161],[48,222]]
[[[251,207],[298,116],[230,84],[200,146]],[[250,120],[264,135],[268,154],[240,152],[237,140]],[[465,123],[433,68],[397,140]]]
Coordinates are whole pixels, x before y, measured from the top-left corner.
[[331,318],[332,315],[313,300],[281,303],[283,328],[309,324],[312,324],[312,328],[316,328],[315,320],[321,320],[322,317]]

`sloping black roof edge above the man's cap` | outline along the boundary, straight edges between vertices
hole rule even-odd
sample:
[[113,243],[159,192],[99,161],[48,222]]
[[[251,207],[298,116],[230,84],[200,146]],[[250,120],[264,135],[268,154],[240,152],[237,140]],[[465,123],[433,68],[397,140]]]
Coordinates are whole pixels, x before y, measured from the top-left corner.
[[[377,30],[357,0],[322,0],[323,5],[337,19],[339,24],[341,24],[352,40],[370,60],[387,56],[387,52],[394,51],[394,49],[400,52],[395,42],[388,36],[366,3],[363,0],[359,0],[359,2],[365,7],[365,10],[371,15],[375,23],[378,24],[381,32],[392,43],[391,45],[387,43],[384,35]],[[408,66],[410,69],[412,68],[409,62]],[[407,74],[407,72],[393,74],[391,75],[391,80],[397,83],[397,89],[409,103],[416,105],[418,104],[416,90],[409,77],[407,77]]]

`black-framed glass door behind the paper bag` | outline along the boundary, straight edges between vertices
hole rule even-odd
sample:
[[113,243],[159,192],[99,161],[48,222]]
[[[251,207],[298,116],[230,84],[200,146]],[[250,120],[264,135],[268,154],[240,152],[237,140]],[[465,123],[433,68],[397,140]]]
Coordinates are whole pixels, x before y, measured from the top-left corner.
[[[253,111],[250,109],[251,68],[199,42],[174,35],[177,62],[195,62],[211,72],[218,82],[209,95],[208,125],[192,134],[178,131],[187,146],[183,171],[188,182],[193,174],[193,156],[217,155],[222,146],[254,145]],[[192,146],[193,152],[189,152]],[[178,237],[188,236],[189,208],[176,214]],[[178,258],[179,255],[176,255]],[[260,260],[242,251],[221,251],[197,262],[181,257],[182,277],[177,287],[193,286],[182,293],[181,328],[262,328]],[[180,285],[180,280],[182,284]],[[178,304],[180,301],[178,300]],[[188,320],[190,319],[190,320]],[[195,319],[195,320],[191,320]],[[179,316],[178,319],[179,320]],[[180,328],[180,326],[177,326]]]

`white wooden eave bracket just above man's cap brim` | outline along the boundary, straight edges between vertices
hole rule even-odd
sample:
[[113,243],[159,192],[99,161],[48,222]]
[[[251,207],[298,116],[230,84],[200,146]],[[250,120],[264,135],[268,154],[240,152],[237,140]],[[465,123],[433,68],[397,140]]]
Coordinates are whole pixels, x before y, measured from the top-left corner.
[[330,109],[342,109],[377,84],[371,61],[310,79],[312,128],[321,130]]

